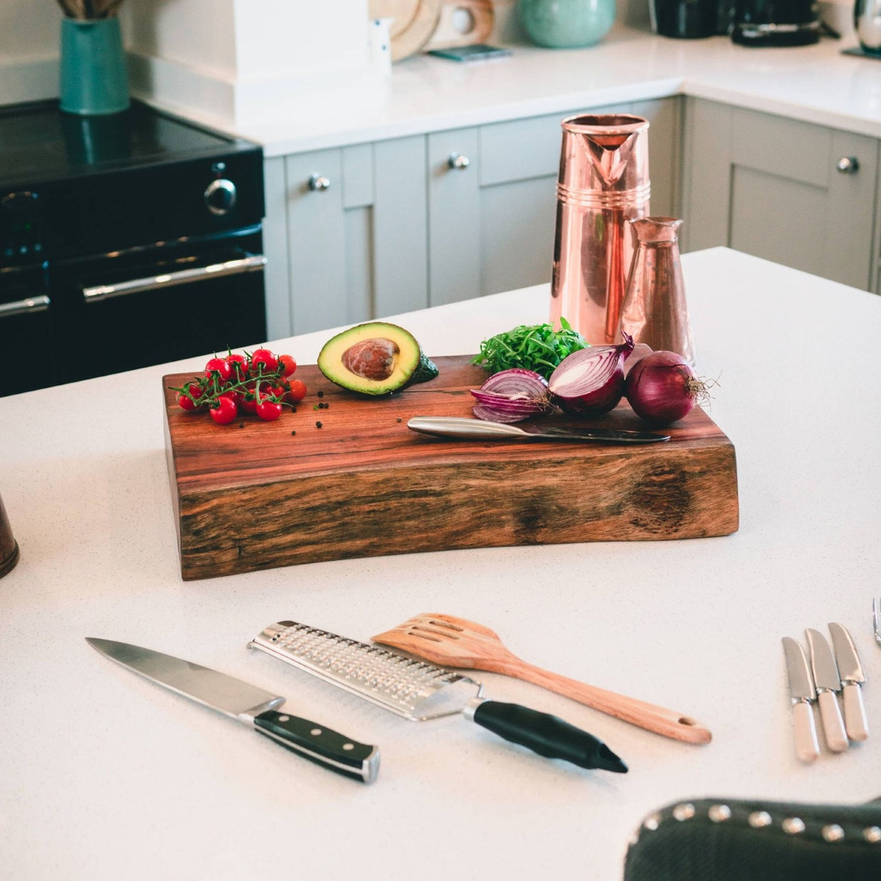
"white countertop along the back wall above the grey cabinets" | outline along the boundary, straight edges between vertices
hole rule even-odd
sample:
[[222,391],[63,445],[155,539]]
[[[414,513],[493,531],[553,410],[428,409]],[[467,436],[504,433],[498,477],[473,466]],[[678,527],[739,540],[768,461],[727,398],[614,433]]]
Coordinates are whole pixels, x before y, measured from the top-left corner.
[[238,133],[276,156],[686,94],[881,137],[881,61],[841,55],[855,45],[851,34],[748,48],[618,26],[591,48],[517,45],[475,63],[413,56],[379,82],[292,95],[274,120]]

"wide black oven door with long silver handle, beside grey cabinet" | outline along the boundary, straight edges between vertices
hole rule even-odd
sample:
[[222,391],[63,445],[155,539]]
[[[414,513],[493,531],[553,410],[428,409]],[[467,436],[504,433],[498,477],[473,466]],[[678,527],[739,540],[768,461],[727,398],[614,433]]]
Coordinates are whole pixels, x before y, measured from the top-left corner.
[[59,381],[265,342],[260,233],[51,267]]

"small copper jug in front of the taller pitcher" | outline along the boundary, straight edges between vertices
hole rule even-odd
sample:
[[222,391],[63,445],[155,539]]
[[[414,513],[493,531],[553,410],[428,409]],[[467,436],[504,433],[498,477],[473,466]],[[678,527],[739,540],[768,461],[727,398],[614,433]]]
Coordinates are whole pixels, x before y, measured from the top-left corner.
[[621,329],[636,343],[677,352],[694,365],[692,325],[679,260],[678,218],[631,220],[636,248],[627,277]]

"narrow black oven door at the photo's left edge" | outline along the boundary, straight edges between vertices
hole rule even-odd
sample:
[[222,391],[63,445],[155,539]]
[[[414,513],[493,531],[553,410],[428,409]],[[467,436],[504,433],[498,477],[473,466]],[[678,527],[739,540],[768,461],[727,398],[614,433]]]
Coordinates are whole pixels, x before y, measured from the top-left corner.
[[50,306],[42,266],[0,270],[0,396],[55,383]]

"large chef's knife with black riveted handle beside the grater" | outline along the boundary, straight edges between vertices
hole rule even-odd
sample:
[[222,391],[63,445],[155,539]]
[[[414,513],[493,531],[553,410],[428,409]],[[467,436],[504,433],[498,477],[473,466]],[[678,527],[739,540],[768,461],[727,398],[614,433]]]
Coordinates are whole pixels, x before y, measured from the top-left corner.
[[248,685],[217,670],[200,667],[150,648],[127,642],[86,641],[108,658],[173,692],[219,710],[255,728],[266,737],[299,752],[313,761],[365,783],[374,781],[380,765],[379,748],[359,744],[351,737],[298,716],[279,713],[283,697]]

